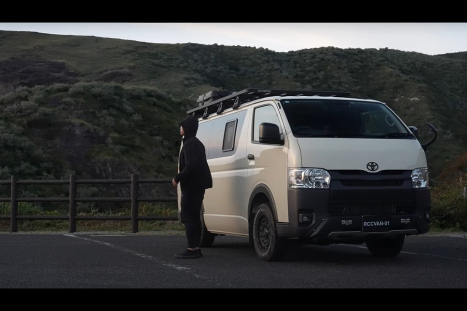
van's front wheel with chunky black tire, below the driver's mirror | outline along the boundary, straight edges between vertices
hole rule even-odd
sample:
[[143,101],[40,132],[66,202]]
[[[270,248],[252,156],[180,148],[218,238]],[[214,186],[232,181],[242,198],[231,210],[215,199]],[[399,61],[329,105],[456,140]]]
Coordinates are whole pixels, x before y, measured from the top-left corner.
[[253,245],[259,259],[281,260],[287,254],[287,241],[277,235],[274,214],[268,203],[261,203],[253,219]]

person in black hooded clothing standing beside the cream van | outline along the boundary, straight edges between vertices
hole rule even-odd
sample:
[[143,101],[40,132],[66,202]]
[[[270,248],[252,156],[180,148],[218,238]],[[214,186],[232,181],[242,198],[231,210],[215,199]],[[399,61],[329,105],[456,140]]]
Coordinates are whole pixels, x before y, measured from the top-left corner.
[[206,151],[196,137],[198,119],[186,116],[180,122],[182,147],[178,158],[178,173],[172,185],[180,183],[180,220],[185,227],[188,247],[175,254],[175,258],[197,258],[202,256],[199,247],[201,240],[201,205],[205,189],[212,187],[212,176],[207,164]]

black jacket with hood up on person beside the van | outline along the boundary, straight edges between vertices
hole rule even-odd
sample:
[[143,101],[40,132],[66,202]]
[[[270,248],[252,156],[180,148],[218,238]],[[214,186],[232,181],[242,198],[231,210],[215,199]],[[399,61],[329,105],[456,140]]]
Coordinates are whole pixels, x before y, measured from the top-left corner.
[[183,146],[178,157],[178,173],[174,179],[180,182],[181,191],[200,191],[212,187],[212,176],[206,159],[206,149],[196,137],[198,119],[186,116],[183,127]]

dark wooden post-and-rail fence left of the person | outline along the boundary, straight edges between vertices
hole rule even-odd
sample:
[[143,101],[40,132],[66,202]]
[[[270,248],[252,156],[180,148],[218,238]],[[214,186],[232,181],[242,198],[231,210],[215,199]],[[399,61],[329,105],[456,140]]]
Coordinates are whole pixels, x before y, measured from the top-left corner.
[[[131,196],[129,197],[76,197],[77,184],[131,184]],[[178,220],[177,216],[139,216],[138,202],[173,202],[173,197],[139,197],[140,183],[171,183],[171,179],[145,178],[139,179],[132,174],[131,179],[76,179],[70,175],[69,179],[57,180],[18,180],[17,176],[11,176],[11,181],[0,180],[0,184],[11,184],[10,197],[0,197],[0,202],[10,202],[10,215],[0,215],[0,219],[10,219],[10,232],[18,231],[18,219],[33,220],[68,220],[68,232],[76,232],[76,220],[131,220],[131,232],[138,232],[139,220]],[[18,185],[20,184],[68,184],[68,197],[18,197]],[[68,216],[60,215],[18,215],[18,202],[68,202]],[[108,216],[83,216],[76,215],[76,202],[131,202],[131,215]]]

